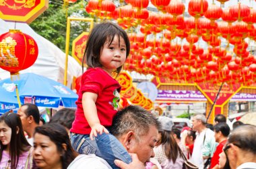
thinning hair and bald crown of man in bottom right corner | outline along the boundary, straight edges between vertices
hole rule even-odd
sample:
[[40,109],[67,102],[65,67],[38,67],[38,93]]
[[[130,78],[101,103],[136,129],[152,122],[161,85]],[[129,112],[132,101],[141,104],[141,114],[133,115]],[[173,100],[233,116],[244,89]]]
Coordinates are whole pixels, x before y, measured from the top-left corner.
[[233,143],[240,149],[256,154],[256,126],[241,125],[228,136],[228,143]]

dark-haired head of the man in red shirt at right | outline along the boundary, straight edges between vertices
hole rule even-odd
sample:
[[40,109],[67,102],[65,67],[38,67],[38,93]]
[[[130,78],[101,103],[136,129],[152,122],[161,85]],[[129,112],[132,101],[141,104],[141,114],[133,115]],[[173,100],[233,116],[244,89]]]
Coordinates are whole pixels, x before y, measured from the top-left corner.
[[230,133],[230,128],[228,127],[228,125],[226,123],[217,123],[214,126],[214,136],[216,139],[216,142],[220,143],[220,141],[222,141],[222,139],[225,139],[226,137],[228,137]]

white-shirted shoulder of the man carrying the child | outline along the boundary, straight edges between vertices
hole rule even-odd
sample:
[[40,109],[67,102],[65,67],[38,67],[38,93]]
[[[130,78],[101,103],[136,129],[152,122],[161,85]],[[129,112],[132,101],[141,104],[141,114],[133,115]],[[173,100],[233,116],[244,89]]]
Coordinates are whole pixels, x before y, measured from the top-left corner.
[[80,154],[69,164],[67,169],[112,169],[108,163],[94,154]]

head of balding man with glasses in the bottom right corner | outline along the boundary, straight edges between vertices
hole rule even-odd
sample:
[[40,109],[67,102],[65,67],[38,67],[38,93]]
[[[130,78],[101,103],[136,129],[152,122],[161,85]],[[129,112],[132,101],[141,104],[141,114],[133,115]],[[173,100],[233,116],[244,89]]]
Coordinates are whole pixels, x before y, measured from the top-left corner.
[[234,168],[245,162],[255,162],[256,126],[242,125],[234,129],[228,136],[224,150],[230,166]]

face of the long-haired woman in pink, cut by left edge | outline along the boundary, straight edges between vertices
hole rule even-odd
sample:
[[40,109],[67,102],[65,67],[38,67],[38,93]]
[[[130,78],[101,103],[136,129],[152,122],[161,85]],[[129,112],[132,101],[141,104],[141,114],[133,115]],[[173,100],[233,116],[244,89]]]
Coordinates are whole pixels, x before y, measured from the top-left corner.
[[9,145],[11,142],[11,127],[6,125],[4,121],[0,122],[0,140],[3,145]]

